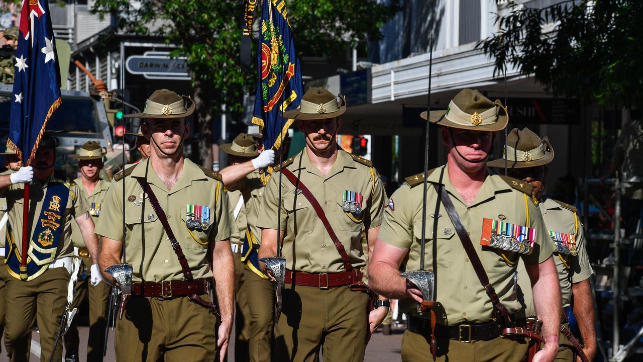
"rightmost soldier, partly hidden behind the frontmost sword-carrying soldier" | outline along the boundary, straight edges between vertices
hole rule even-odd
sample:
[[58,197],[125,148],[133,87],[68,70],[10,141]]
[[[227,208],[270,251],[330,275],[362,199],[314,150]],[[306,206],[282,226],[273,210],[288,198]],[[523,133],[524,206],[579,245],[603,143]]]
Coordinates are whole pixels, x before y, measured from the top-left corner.
[[[490,161],[488,166],[503,171],[505,158],[509,176],[531,184],[532,197],[545,220],[547,235],[556,244],[553,258],[558,272],[563,308],[570,307],[577,317],[583,337],[584,346],[581,349],[588,361],[592,361],[596,354],[594,305],[589,280],[593,270],[585,248],[583,225],[576,215],[574,206],[544,195],[547,164],[554,160],[554,149],[547,137],[541,140],[528,128],[521,131],[514,128],[507,136],[506,155],[499,160]],[[527,316],[533,315],[533,309],[530,308],[533,296],[528,280],[519,277],[518,283],[525,295],[525,304],[529,310]],[[563,315],[566,315],[566,310],[563,310]],[[572,339],[577,341],[575,337],[570,338],[566,335],[570,333],[566,321],[563,321],[563,327],[565,332],[561,332],[559,336],[560,347],[556,361],[574,362],[578,346],[574,346]]]

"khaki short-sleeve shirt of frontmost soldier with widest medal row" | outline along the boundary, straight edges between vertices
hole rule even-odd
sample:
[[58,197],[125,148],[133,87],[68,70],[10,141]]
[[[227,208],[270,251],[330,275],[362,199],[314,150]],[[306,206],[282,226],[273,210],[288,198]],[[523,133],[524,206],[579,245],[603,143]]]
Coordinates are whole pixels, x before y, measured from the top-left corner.
[[[442,184],[466,227],[476,253],[485,267],[489,281],[509,312],[521,309],[516,300],[513,276],[519,254],[500,251],[480,245],[484,218],[502,220],[536,229],[534,251],[522,256],[526,263],[541,263],[550,258],[554,247],[547,236],[543,218],[531,198],[517,191],[500,176],[487,175],[473,204],[467,205],[449,181],[448,167],[444,167]],[[493,317],[493,305],[480,284],[455,232],[444,205],[435,217],[438,195],[433,184],[439,184],[441,167],[428,177],[426,199],[425,268],[435,271],[437,322],[456,325],[462,322],[486,323]],[[400,187],[385,207],[379,239],[389,245],[408,249],[403,267],[406,271],[420,269],[420,240],[422,236],[422,183],[415,187]],[[529,217],[528,214],[529,213]],[[437,219],[437,220],[436,220]],[[436,243],[433,243],[433,222],[437,221]],[[437,251],[435,254],[433,251]],[[505,261],[505,258],[509,262]],[[434,260],[435,259],[435,260]],[[404,312],[417,315],[416,303],[410,298],[400,301]]]

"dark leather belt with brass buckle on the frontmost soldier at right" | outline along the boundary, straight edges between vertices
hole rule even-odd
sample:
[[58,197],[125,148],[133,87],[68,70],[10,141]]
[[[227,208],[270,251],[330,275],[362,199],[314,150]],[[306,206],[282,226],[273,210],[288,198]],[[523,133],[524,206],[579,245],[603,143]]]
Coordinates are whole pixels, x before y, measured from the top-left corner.
[[[516,325],[525,325],[525,319],[517,319]],[[429,319],[409,316],[408,330],[413,333],[429,336],[431,334],[431,321]],[[482,324],[435,325],[435,337],[455,339],[469,343],[474,340],[489,340],[498,338],[503,334],[502,321],[491,321]]]

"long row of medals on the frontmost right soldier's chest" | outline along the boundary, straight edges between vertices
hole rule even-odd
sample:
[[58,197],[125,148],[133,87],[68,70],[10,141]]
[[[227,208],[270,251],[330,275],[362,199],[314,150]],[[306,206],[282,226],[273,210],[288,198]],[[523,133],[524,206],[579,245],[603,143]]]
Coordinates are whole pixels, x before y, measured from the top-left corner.
[[482,221],[480,245],[530,254],[534,249],[536,229],[489,218]]

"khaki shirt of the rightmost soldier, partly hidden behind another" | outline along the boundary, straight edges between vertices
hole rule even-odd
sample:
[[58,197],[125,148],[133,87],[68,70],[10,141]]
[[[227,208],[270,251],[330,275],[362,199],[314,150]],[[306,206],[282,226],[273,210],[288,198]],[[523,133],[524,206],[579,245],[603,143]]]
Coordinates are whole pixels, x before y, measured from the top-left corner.
[[[561,302],[563,307],[568,307],[572,303],[572,283],[579,283],[587,280],[594,273],[592,265],[590,265],[589,256],[587,255],[585,235],[583,225],[578,220],[574,211],[563,207],[552,198],[545,198],[543,202],[538,204],[538,209],[543,215],[545,226],[548,231],[556,233],[574,235],[576,242],[576,256],[566,255],[554,251],[554,265],[558,272],[558,283],[561,287]],[[519,269],[519,282],[520,288],[524,297],[525,305],[527,306],[527,316],[535,316],[536,310],[534,309],[533,294],[530,288],[529,278],[522,278],[526,272]]]

